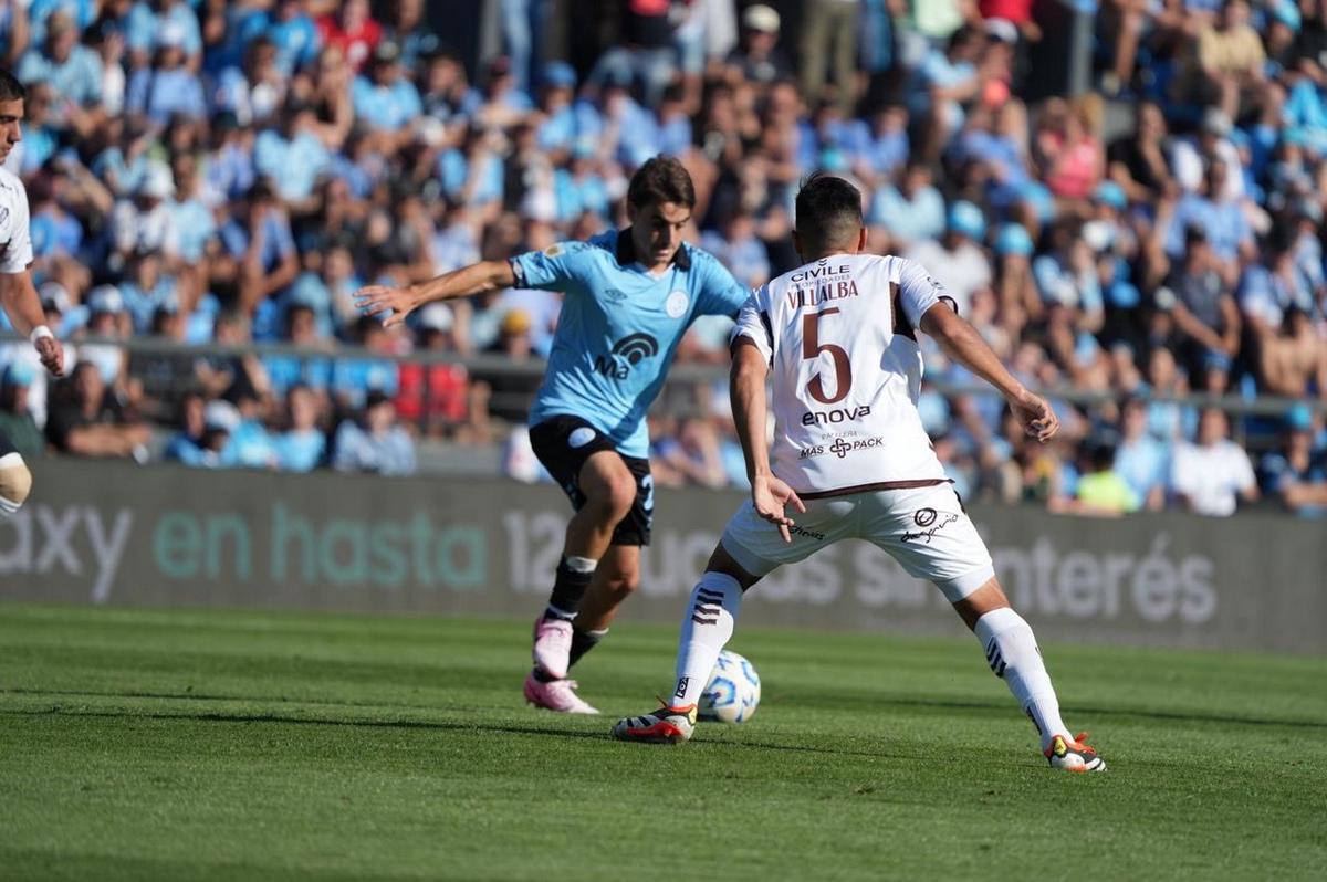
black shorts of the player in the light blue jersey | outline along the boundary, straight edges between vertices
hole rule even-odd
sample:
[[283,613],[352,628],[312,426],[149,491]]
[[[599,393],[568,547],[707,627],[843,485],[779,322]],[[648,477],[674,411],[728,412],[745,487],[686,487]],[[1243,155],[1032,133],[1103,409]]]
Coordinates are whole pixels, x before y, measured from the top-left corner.
[[[532,426],[529,428],[529,446],[553,480],[561,484],[576,511],[585,505],[585,493],[580,488],[580,470],[585,460],[601,450],[617,454],[613,439],[580,416],[552,416]],[[613,528],[612,542],[613,545],[649,545],[650,524],[654,516],[654,477],[650,476],[650,460],[622,456],[622,462],[636,477],[636,501],[632,503],[626,517]]]

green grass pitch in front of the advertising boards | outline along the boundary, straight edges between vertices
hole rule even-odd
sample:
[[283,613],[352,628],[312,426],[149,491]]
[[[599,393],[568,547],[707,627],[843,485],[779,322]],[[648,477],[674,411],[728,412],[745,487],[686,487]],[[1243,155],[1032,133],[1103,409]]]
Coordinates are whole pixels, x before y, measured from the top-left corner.
[[1075,776],[957,622],[743,629],[751,723],[613,741],[629,619],[568,719],[524,621],[0,605],[0,878],[1327,878],[1324,659],[1046,646]]

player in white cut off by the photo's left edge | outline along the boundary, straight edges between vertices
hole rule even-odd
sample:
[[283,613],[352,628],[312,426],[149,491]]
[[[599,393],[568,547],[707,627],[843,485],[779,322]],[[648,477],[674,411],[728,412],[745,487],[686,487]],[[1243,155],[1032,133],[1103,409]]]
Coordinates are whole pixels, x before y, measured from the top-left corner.
[[[25,97],[23,84],[8,70],[0,70],[0,166],[23,139]],[[9,324],[32,341],[45,369],[60,377],[64,374],[64,353],[60,341],[46,328],[46,316],[28,272],[31,263],[28,191],[17,176],[0,168],[0,306]],[[0,431],[0,517],[17,512],[31,491],[28,464]]]

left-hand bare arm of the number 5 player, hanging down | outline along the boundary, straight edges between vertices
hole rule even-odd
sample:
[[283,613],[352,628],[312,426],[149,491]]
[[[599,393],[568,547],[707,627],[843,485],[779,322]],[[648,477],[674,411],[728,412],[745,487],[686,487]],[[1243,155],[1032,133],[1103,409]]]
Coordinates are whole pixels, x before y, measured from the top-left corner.
[[783,541],[791,542],[788,527],[794,521],[787,516],[787,508],[804,512],[807,507],[770,468],[770,444],[764,436],[767,373],[768,366],[760,350],[750,340],[738,337],[733,344],[729,391],[733,398],[733,422],[746,456],[747,477],[751,479],[751,504],[755,505],[756,515],[779,527]]

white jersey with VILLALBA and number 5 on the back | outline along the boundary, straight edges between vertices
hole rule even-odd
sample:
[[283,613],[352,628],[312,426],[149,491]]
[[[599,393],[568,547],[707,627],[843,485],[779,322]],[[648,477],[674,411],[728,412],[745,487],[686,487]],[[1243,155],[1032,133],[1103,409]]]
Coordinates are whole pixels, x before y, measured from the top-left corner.
[[774,473],[804,499],[946,481],[917,397],[916,328],[945,289],[902,257],[839,255],[758,288],[734,340],[772,371]]

